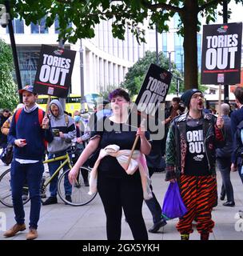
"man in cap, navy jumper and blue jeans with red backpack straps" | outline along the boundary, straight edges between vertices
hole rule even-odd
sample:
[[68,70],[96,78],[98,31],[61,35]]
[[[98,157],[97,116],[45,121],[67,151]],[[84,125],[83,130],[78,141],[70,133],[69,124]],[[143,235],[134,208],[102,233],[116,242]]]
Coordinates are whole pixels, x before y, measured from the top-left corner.
[[[14,145],[14,159],[11,163],[11,190],[16,224],[3,235],[13,237],[26,230],[25,211],[22,202],[22,188],[27,180],[30,191],[30,230],[26,239],[38,237],[38,220],[41,210],[40,186],[44,166],[42,162],[45,142],[53,140],[49,119],[44,111],[38,109],[37,94],[33,86],[25,86],[18,92],[22,94],[24,108],[17,110],[10,125],[8,141]],[[42,129],[42,126],[45,129]]]

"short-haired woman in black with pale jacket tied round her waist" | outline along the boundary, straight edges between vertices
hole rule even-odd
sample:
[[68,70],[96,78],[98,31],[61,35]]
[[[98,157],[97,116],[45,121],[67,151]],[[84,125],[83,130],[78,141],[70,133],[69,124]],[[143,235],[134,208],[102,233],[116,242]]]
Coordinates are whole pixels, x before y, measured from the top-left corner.
[[[76,162],[73,169],[70,170],[70,182],[74,182],[80,166],[100,147],[102,150],[98,158],[98,162],[100,161],[98,166],[98,193],[102,198],[106,212],[106,233],[108,240],[121,239],[122,209],[132,231],[133,238],[135,240],[147,240],[148,234],[141,213],[145,191],[141,185],[140,171],[145,170],[141,170],[142,167],[146,168],[143,164],[145,161],[143,154],[149,154],[151,149],[151,145],[147,139],[149,134],[145,133],[141,128],[137,131],[132,130],[131,126],[125,124],[128,118],[130,102],[129,94],[125,90],[118,88],[111,92],[110,101],[113,115],[110,118],[102,118],[98,122],[96,130],[91,134],[88,146],[86,146],[86,149],[78,158],[78,162]],[[124,164],[118,162],[117,158],[108,154],[107,149],[119,146],[120,150],[118,152],[116,151],[116,154],[122,154],[123,157],[129,155],[136,134],[139,136],[139,139],[135,148],[137,158],[133,159],[133,163],[139,164],[140,171],[135,168],[131,174],[127,174],[125,171],[127,161]],[[104,152],[106,152],[106,156],[102,155]],[[142,163],[140,159],[143,159]],[[130,170],[130,166],[127,171]],[[151,195],[149,194],[149,196]],[[145,198],[147,197],[145,196]]]

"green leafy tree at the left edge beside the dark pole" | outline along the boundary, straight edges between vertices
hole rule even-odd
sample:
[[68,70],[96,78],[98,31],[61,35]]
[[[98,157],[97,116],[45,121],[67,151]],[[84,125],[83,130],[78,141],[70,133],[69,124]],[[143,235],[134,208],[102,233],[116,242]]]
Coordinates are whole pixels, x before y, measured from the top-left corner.
[[14,62],[10,46],[0,39],[0,108],[14,110],[18,104],[17,86],[12,72]]

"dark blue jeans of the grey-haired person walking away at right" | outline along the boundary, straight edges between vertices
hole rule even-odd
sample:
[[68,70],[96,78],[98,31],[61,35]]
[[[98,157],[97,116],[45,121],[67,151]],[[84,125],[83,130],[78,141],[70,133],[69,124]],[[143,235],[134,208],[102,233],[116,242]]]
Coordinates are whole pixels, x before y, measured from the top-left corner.
[[230,181],[230,166],[231,158],[217,158],[217,165],[221,172],[222,177],[222,188],[221,196],[224,197],[226,194],[228,202],[234,202],[233,199],[233,186]]

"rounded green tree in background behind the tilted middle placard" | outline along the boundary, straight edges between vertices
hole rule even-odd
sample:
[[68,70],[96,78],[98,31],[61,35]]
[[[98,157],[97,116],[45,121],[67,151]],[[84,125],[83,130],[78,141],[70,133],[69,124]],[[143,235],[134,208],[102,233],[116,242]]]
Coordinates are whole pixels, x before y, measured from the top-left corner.
[[[156,64],[156,52],[146,51],[145,56],[140,58],[132,67],[129,68],[128,72],[125,74],[125,81],[121,83],[121,86],[129,90],[131,96],[138,94],[141,84],[145,78],[145,74],[149,69],[151,63]],[[158,53],[158,66],[161,66],[165,70],[169,70],[169,58],[166,58],[163,53]],[[176,78],[181,78],[180,72],[176,69],[174,63],[171,63],[171,71],[175,78],[169,87],[169,93],[176,93]],[[183,86],[180,88],[183,89]],[[180,90],[180,91],[181,91]]]

